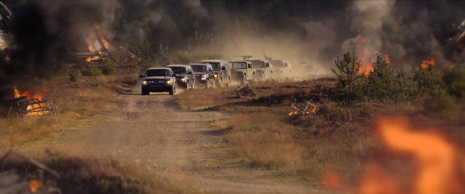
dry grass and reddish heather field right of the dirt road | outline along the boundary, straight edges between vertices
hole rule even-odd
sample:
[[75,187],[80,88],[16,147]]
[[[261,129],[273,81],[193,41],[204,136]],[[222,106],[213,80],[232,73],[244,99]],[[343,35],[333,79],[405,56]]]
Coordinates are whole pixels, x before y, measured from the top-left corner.
[[[384,153],[374,130],[379,116],[409,116],[416,126],[446,131],[458,144],[465,138],[460,116],[435,118],[416,103],[361,102],[350,108],[338,106],[316,89],[317,84],[331,87],[336,81],[321,78],[253,83],[251,87],[259,95],[256,98],[238,98],[235,87],[187,90],[177,98],[185,110],[232,113],[212,123],[226,132],[231,158],[250,168],[274,170],[280,178],[304,180],[317,186],[321,175],[327,172],[335,172],[354,184],[373,158],[392,160]],[[299,107],[306,102],[318,107],[315,115],[287,115],[293,110],[291,104]]]

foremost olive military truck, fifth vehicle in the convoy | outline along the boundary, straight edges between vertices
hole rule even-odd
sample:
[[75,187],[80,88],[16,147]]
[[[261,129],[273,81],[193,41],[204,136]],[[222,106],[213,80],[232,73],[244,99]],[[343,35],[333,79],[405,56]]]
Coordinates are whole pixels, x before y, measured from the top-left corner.
[[255,70],[250,61],[230,61],[231,79],[244,84],[247,81],[255,80]]

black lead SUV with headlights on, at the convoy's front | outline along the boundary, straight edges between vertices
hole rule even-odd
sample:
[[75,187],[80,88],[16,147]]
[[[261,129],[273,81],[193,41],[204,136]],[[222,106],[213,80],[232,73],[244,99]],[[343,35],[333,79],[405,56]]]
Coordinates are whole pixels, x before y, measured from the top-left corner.
[[142,95],[150,92],[176,93],[176,78],[170,68],[149,68],[139,78],[142,78]]

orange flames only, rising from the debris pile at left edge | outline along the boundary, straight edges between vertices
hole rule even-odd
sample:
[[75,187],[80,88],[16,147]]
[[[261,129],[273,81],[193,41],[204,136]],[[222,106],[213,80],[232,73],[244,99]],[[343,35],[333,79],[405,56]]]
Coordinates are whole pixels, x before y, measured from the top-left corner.
[[[18,88],[13,86],[13,92],[14,92],[14,98],[20,98],[20,97],[26,97],[28,100],[34,100],[37,99],[38,101],[43,101],[43,95],[47,92],[45,87],[41,86],[38,87],[34,90],[26,90],[23,92],[20,92]],[[45,112],[34,112],[34,110],[40,109],[46,107],[44,103],[37,103],[37,104],[32,104],[27,107],[28,111],[33,111],[33,112],[28,112],[27,116],[41,116],[41,115],[46,115],[47,113]]]

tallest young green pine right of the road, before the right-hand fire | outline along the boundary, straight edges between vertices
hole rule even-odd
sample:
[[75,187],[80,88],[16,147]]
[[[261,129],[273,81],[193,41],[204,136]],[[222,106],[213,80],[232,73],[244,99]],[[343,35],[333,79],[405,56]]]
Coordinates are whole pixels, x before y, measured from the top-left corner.
[[363,99],[361,83],[365,73],[358,75],[361,64],[360,61],[357,62],[355,54],[350,56],[350,53],[346,53],[342,60],[337,57],[334,62],[338,71],[332,68],[331,71],[337,76],[338,81],[330,98],[345,106],[352,106]]

